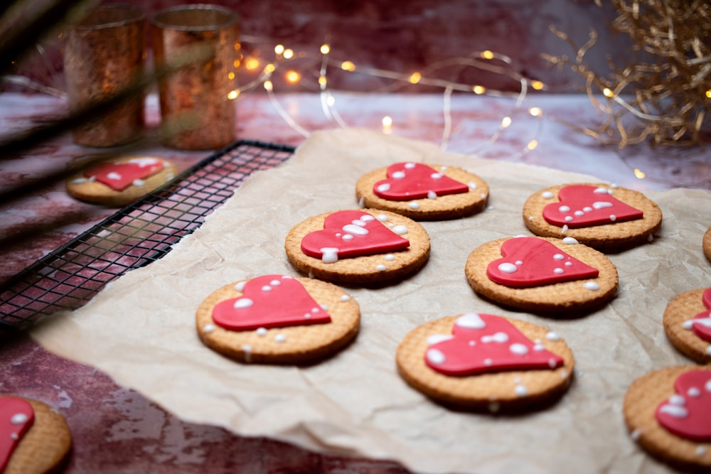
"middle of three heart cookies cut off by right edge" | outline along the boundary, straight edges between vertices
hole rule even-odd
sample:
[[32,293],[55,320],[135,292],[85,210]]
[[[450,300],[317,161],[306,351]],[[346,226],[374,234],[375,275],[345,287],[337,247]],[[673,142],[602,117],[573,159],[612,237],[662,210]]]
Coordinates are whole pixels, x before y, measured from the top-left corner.
[[[711,319],[707,303],[711,304],[711,289],[686,291],[669,302],[662,318],[664,332],[674,347],[700,364],[711,362]],[[693,323],[697,315],[702,321]],[[702,322],[706,323],[705,327],[700,325]]]

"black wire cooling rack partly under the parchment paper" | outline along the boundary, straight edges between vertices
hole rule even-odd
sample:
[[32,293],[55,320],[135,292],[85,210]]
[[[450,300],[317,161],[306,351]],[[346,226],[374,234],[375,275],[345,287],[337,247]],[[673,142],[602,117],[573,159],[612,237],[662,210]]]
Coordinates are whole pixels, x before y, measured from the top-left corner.
[[213,153],[10,279],[0,289],[0,327],[26,328],[84,306],[109,281],[170,252],[254,171],[293,153],[292,146],[260,141]]

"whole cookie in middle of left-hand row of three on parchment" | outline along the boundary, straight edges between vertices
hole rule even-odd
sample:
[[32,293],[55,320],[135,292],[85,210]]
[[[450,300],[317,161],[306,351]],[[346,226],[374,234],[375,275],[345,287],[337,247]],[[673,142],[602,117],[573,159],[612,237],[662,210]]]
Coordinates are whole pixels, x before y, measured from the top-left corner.
[[295,225],[284,249],[296,269],[313,278],[373,284],[404,279],[422,267],[429,258],[429,235],[394,212],[339,210]]

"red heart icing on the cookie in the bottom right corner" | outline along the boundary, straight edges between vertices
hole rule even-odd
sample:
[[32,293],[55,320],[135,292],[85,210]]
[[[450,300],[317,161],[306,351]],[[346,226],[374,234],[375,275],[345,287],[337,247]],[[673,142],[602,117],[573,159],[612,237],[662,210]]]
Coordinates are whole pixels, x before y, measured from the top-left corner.
[[677,377],[671,397],[659,404],[659,424],[682,438],[711,440],[711,370],[690,370]]

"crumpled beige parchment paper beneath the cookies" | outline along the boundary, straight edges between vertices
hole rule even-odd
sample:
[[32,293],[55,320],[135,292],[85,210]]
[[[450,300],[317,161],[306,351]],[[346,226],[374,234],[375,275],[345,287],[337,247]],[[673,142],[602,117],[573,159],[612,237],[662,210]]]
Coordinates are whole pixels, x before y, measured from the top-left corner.
[[[574,158],[574,157],[571,157]],[[348,288],[362,325],[353,345],[318,365],[241,365],[205,348],[194,313],[224,284],[267,273],[296,275],[284,237],[306,217],[358,208],[355,181],[397,161],[461,166],[491,187],[491,208],[461,220],[424,222],[432,254],[415,276],[382,289]],[[651,244],[609,258],[617,298],[578,319],[507,311],[481,300],[464,277],[472,249],[530,234],[521,207],[549,185],[597,181],[547,168],[443,153],[375,131],[311,136],[296,156],[255,174],[164,259],[109,285],[85,308],[49,318],[33,338],[58,355],[98,367],[187,421],[270,436],[331,453],[399,460],[421,472],[667,472],[626,432],[622,399],[649,370],[690,363],[665,338],[662,313],[678,293],[709,285],[702,254],[711,225],[702,190],[646,193],[663,210]],[[560,402],[523,416],[449,411],[400,379],[395,350],[420,323],[466,311],[522,318],[559,333],[577,360]]]

